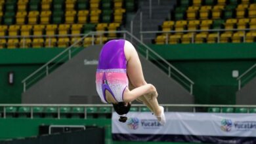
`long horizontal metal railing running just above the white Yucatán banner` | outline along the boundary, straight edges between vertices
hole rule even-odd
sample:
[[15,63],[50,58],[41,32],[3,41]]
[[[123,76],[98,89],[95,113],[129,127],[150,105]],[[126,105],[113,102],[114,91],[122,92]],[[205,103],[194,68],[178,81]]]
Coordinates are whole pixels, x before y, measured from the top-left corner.
[[[222,109],[224,107],[233,107],[233,108],[238,108],[238,107],[242,107],[242,108],[247,108],[247,113],[249,113],[249,108],[256,108],[256,105],[200,105],[200,104],[161,104],[163,107],[165,107],[165,112],[169,112],[172,111],[171,109],[173,108],[192,108],[193,113],[196,112],[201,112],[201,111],[197,111],[196,108],[209,108],[209,107],[219,107]],[[46,107],[55,107],[57,109],[56,113],[57,113],[57,117],[58,119],[60,119],[60,108],[61,107],[69,107],[70,110],[73,107],[81,107],[83,108],[83,111],[81,111],[81,113],[83,113],[83,118],[86,119],[87,118],[87,107],[96,107],[97,109],[99,107],[110,107],[111,108],[111,112],[112,113],[114,111],[113,109],[113,105],[110,104],[0,104],[0,109],[3,109],[2,111],[2,118],[7,118],[7,113],[26,113],[26,112],[19,112],[18,109],[15,112],[7,112],[7,108],[9,107],[28,107],[29,108],[29,112],[30,113],[30,118],[34,118],[34,112],[33,112],[33,107],[42,107],[43,111],[41,111],[40,113],[47,113],[44,111],[44,109]],[[146,107],[146,105],[143,104],[133,104],[132,107],[137,107],[139,111],[142,110],[143,107]],[[189,110],[190,111],[190,110]],[[38,112],[37,112],[38,113]],[[70,111],[70,113],[72,113],[72,111]],[[97,111],[96,113],[100,113],[99,111]],[[254,115],[254,114],[253,114]]]

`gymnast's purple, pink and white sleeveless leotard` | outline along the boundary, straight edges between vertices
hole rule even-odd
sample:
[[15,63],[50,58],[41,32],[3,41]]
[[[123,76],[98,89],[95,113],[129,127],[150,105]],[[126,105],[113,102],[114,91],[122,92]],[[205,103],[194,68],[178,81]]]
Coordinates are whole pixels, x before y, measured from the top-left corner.
[[108,103],[106,90],[114,96],[116,101],[123,101],[123,92],[129,84],[124,45],[123,39],[108,41],[100,52],[96,71],[96,90],[104,103]]

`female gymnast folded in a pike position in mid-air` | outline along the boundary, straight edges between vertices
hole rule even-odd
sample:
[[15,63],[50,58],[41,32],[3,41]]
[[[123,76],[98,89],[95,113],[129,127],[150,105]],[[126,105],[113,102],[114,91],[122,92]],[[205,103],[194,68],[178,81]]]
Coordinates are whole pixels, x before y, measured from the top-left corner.
[[164,109],[158,105],[155,86],[144,80],[135,47],[124,39],[108,41],[100,52],[96,70],[96,90],[103,103],[112,103],[120,122],[129,112],[131,101],[144,103],[165,124]]

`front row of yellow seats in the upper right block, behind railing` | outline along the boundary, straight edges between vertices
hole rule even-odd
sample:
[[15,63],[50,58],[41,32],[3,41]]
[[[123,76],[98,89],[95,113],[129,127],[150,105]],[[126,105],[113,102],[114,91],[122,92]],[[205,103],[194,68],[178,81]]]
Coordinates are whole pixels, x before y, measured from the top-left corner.
[[[219,40],[218,40],[219,37]],[[177,43],[253,43],[256,41],[256,31],[232,31],[224,33],[186,33],[158,35],[155,39],[156,44],[177,44]]]

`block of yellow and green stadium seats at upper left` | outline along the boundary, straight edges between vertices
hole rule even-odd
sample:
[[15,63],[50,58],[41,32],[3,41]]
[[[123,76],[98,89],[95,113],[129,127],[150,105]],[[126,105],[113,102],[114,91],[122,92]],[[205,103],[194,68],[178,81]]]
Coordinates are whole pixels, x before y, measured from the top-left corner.
[[[134,0],[0,0],[0,48],[67,47],[81,37],[75,35],[119,30],[133,10]],[[117,36],[96,37],[95,44]],[[87,37],[82,45],[91,44]]]

